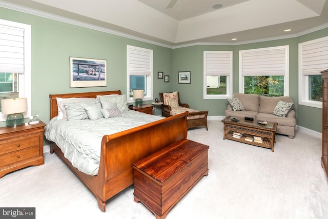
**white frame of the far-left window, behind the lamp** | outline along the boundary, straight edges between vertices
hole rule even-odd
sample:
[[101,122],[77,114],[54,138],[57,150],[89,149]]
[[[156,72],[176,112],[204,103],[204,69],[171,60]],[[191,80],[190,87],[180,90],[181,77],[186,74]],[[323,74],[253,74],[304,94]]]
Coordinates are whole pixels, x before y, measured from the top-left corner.
[[[0,25],[24,29],[24,74],[18,74],[19,97],[27,98],[27,111],[23,112],[24,117],[31,115],[31,25],[6,21],[0,19]],[[15,73],[15,72],[13,72]],[[7,115],[0,112],[0,121],[6,121]]]

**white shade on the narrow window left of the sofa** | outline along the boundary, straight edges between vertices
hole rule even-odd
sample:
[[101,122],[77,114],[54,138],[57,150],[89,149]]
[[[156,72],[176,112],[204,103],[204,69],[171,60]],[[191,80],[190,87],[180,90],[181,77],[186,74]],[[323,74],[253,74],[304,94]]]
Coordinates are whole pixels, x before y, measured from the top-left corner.
[[206,75],[229,76],[231,71],[231,52],[206,51]]

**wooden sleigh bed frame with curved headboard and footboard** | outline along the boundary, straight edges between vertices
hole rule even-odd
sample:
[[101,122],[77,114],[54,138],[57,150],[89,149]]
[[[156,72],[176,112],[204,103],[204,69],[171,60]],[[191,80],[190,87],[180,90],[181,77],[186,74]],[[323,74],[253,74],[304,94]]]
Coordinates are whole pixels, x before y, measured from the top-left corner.
[[[50,119],[58,114],[56,97],[96,98],[97,95],[109,94],[121,94],[121,91],[50,94]],[[106,201],[133,184],[133,163],[182,138],[187,138],[187,115],[188,112],[103,136],[100,145],[99,170],[96,176],[85,174],[73,167],[54,142],[50,143],[50,153],[55,151],[88,186],[96,195],[99,208],[105,212]]]

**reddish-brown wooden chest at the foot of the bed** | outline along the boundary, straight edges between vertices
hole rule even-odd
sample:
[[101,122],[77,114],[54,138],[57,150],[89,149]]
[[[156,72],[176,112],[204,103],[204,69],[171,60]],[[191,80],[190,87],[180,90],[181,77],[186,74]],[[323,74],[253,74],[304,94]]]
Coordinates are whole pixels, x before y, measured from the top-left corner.
[[209,146],[180,140],[133,164],[134,201],[156,218],[168,211],[203,175],[208,175]]

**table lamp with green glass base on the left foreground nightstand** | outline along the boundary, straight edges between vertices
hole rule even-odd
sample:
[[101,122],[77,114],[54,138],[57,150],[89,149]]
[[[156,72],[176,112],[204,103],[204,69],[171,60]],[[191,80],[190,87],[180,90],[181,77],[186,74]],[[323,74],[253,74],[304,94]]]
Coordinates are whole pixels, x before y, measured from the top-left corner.
[[27,111],[27,98],[13,98],[1,100],[2,114],[7,115],[7,127],[16,128],[24,122],[22,112]]

